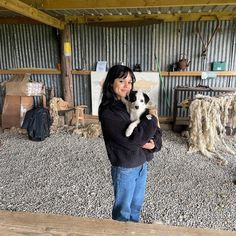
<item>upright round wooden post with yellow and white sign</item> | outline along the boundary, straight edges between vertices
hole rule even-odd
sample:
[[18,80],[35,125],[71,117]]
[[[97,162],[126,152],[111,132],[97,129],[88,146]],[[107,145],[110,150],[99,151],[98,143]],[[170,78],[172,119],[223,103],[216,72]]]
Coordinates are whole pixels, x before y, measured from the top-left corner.
[[69,103],[69,106],[74,106],[69,25],[66,25],[65,29],[61,31],[61,63],[63,99]]

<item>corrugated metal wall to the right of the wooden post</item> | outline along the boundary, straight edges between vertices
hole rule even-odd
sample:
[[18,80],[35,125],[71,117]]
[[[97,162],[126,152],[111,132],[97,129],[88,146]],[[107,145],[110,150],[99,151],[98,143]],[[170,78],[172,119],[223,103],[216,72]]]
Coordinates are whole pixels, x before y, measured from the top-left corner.
[[[169,66],[183,55],[191,60],[189,71],[211,70],[213,61],[225,61],[226,70],[236,70],[236,33],[234,21],[221,21],[220,30],[209,43],[207,57],[200,56],[203,43],[208,44],[216,21],[171,22],[137,27],[99,27],[71,25],[73,68],[95,70],[97,61],[107,61],[108,67],[124,62],[133,68],[141,64],[143,71],[169,70]],[[197,28],[200,36],[197,33]],[[81,97],[84,88],[90,87],[90,79],[74,76],[75,103],[91,104]],[[83,82],[82,82],[83,80]],[[217,77],[201,80],[200,77],[163,77],[160,91],[159,112],[162,116],[173,114],[173,92],[178,85],[210,87],[236,87],[236,77]],[[86,84],[84,84],[86,83]],[[85,99],[86,98],[86,99]],[[184,113],[183,113],[184,115]]]

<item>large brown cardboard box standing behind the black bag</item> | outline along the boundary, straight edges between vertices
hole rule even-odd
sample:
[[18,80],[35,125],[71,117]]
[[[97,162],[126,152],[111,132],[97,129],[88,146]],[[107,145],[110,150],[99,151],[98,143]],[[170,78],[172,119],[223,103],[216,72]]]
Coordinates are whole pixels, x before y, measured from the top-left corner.
[[33,97],[6,95],[2,111],[2,128],[20,128],[25,113],[33,108]]

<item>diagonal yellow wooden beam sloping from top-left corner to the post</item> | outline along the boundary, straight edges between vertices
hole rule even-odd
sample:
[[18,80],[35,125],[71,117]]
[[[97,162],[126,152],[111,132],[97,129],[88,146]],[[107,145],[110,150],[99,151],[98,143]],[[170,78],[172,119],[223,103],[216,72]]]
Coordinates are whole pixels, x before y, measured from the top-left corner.
[[64,29],[65,23],[63,21],[47,15],[19,0],[0,0],[0,6],[55,28]]

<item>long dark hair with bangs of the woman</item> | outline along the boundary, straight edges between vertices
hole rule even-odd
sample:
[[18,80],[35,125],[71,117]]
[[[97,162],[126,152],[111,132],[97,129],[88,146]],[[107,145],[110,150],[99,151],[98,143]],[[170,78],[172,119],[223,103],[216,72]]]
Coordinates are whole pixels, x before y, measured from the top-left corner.
[[98,110],[99,116],[101,112],[104,110],[104,108],[106,108],[108,105],[112,105],[116,101],[116,95],[112,87],[114,80],[118,78],[126,78],[128,73],[130,73],[132,78],[132,89],[133,89],[133,84],[136,81],[136,79],[133,71],[129,67],[123,65],[115,65],[108,70],[106,79],[102,86],[102,101]]

